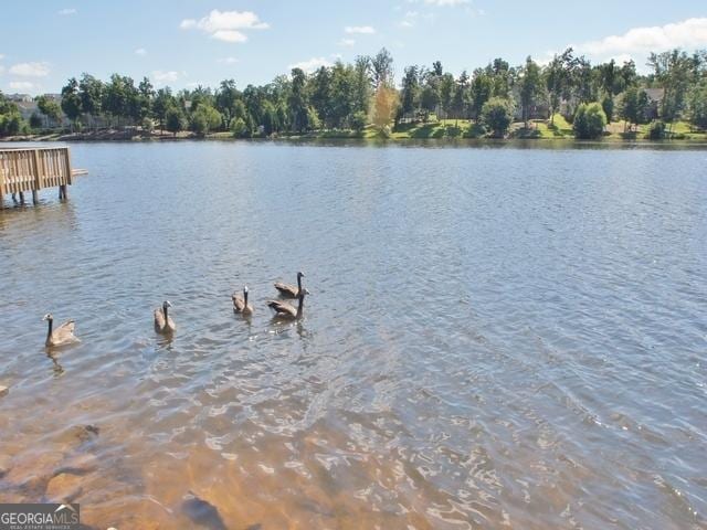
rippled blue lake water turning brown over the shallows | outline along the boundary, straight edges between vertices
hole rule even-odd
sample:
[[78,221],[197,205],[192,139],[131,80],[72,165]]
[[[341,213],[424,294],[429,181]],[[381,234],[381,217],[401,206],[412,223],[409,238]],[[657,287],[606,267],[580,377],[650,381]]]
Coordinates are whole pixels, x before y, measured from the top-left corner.
[[[707,151],[563,146],[72,145],[68,202],[0,212],[0,501],[707,528]],[[50,311],[80,344],[48,354]]]

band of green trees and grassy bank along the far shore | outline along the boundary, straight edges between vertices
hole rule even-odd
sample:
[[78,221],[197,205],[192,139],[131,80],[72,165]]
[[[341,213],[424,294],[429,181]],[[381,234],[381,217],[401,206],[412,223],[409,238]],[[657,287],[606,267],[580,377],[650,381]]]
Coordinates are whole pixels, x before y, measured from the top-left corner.
[[589,139],[707,142],[707,50],[652,53],[650,72],[633,61],[592,65],[567,49],[547,64],[496,59],[458,76],[436,61],[408,66],[399,83],[382,49],[354,63],[239,89],[172,93],[145,77],[84,73],[61,95],[23,108],[0,93],[0,140],[172,139]]

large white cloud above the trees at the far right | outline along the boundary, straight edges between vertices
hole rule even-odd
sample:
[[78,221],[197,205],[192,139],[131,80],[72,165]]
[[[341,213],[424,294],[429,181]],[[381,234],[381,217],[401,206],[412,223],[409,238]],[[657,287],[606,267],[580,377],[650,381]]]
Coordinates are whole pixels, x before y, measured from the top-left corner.
[[663,52],[674,47],[695,49],[706,44],[707,18],[699,18],[665,25],[632,28],[622,35],[580,44],[577,51],[594,56],[616,56]]

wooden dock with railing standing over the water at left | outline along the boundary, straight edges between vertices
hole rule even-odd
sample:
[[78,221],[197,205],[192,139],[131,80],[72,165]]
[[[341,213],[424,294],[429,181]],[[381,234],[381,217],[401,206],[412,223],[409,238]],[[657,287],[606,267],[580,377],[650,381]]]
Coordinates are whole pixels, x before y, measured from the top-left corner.
[[74,177],[86,174],[83,169],[72,169],[68,147],[28,147],[0,149],[0,209],[6,194],[24,203],[24,192],[32,192],[32,201],[38,202],[38,191],[43,188],[59,188],[60,200],[67,199],[66,188]]

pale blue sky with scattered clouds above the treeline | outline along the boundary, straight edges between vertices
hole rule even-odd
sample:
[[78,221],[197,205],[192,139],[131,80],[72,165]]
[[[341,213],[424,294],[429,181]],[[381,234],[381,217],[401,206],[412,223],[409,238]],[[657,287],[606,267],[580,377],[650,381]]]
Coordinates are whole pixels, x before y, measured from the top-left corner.
[[386,46],[404,66],[458,75],[494,57],[547,62],[707,47],[705,0],[21,0],[2,7],[0,91],[56,93],[83,72],[175,89],[264,84]]

